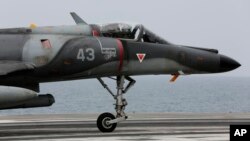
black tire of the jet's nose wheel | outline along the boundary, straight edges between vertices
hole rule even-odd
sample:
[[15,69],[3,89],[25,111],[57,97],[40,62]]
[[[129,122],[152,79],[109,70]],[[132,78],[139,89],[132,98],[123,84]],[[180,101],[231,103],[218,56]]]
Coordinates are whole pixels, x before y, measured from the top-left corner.
[[115,116],[111,113],[102,113],[97,118],[97,127],[101,132],[112,132],[115,130],[117,123],[108,125],[107,121],[115,119]]

